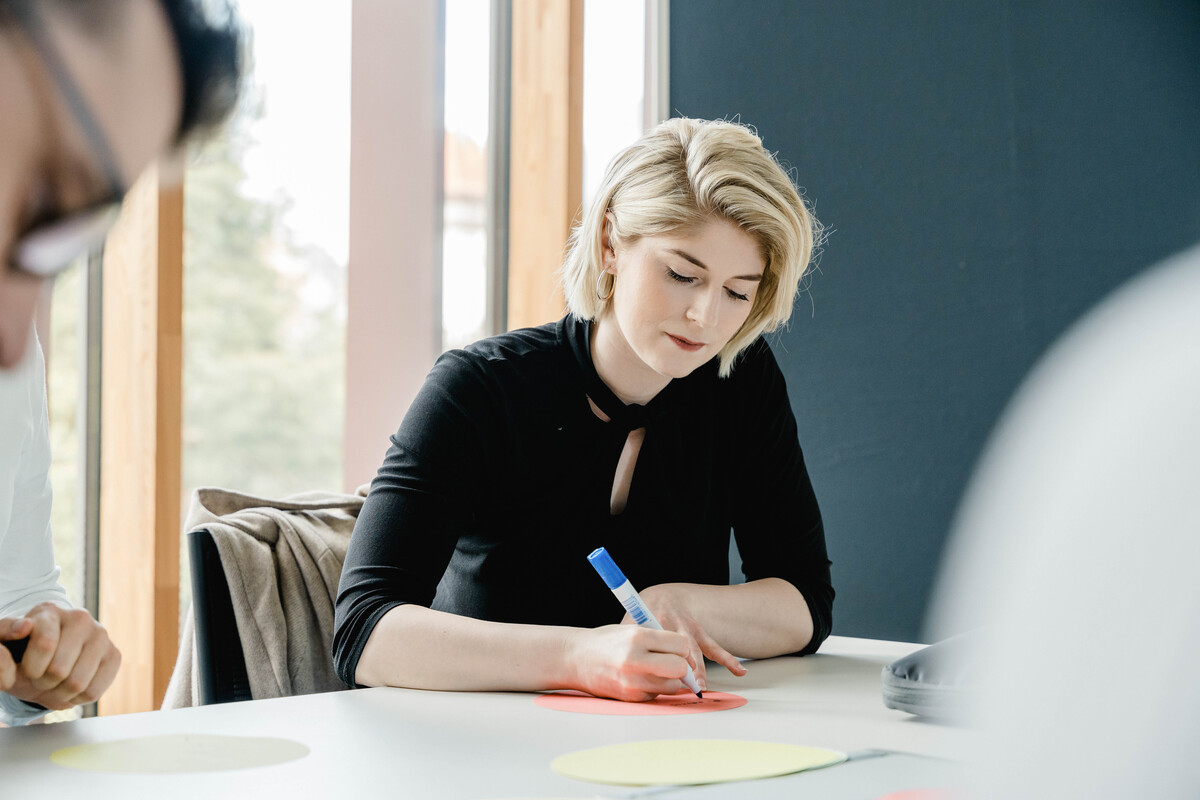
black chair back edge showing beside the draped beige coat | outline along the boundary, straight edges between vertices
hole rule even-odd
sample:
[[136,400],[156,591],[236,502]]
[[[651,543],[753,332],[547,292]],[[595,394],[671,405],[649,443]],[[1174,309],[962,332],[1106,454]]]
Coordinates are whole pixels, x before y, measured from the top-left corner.
[[221,554],[206,529],[187,534],[200,705],[248,700],[250,678]]

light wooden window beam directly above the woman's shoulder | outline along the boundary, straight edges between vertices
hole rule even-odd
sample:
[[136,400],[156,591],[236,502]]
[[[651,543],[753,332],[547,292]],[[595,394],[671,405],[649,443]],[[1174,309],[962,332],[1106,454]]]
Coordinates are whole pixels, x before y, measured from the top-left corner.
[[514,0],[509,327],[563,315],[557,270],[583,198],[583,0]]

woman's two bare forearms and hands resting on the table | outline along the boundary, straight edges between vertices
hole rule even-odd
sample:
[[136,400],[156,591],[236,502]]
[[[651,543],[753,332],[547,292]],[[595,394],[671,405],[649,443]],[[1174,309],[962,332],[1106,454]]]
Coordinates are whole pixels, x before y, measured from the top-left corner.
[[[737,656],[796,652],[812,638],[804,596],[780,578],[733,587],[661,584],[642,595],[668,628],[673,626],[667,609],[685,609]],[[679,686],[664,682],[686,668],[678,657],[686,652],[684,639],[672,638],[678,633],[618,628],[490,622],[424,606],[397,606],[371,632],[355,680],[364,686],[442,691],[583,688],[626,699]],[[676,655],[664,661],[662,654]]]

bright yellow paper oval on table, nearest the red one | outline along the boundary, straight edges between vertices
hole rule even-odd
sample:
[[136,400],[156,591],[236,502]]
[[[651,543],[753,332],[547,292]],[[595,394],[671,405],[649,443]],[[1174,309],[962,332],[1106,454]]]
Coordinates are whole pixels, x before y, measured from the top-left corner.
[[770,741],[630,741],[559,756],[559,775],[619,786],[697,786],[788,775],[846,760],[845,753]]

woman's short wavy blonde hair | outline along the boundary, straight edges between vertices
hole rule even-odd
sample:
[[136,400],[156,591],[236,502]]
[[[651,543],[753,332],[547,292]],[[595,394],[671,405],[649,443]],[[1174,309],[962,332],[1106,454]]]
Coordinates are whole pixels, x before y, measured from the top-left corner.
[[642,236],[698,228],[714,216],[758,242],[766,270],[750,315],[718,354],[722,378],[742,350],[792,315],[822,233],[754,130],[721,120],[667,120],[612,161],[595,200],[571,231],[560,279],[566,307],[581,319],[598,318],[607,302],[596,296],[606,215],[614,248]]

